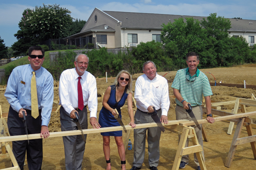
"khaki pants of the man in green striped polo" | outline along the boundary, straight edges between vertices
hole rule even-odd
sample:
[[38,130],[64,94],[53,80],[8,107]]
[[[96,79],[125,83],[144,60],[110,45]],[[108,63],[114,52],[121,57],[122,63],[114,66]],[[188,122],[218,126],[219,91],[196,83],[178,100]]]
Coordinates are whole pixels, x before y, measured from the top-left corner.
[[[203,119],[203,111],[202,111],[202,107],[201,106],[192,108],[192,111],[193,111],[193,113],[195,115],[195,118],[197,120]],[[176,105],[175,112],[176,112],[176,120],[188,119],[188,120],[192,121],[191,117],[189,116],[189,114],[186,112],[186,110],[183,107],[180,107],[180,106]],[[203,147],[202,130],[199,130],[196,125],[192,125],[191,127],[195,128],[195,133],[196,133],[198,142],[202,146],[202,149],[203,149],[202,156],[204,158],[204,147]],[[202,129],[202,124],[200,125],[200,127]],[[180,142],[180,135],[179,135],[179,142]],[[189,145],[189,139],[186,140],[185,147],[188,147],[188,145]],[[181,161],[189,162],[189,155],[182,156]],[[194,153],[194,161],[195,161],[196,166],[199,166],[198,159],[197,159],[195,153]]]

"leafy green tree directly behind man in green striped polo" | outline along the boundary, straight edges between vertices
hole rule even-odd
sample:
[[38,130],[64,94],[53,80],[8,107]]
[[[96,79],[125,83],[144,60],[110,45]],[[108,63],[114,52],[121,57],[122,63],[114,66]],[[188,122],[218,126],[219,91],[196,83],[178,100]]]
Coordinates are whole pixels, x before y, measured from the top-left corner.
[[[199,20],[192,17],[178,18],[175,22],[163,24],[161,40],[177,68],[185,67],[186,54],[190,51],[201,53],[206,48],[206,34]],[[200,66],[200,65],[198,65]]]

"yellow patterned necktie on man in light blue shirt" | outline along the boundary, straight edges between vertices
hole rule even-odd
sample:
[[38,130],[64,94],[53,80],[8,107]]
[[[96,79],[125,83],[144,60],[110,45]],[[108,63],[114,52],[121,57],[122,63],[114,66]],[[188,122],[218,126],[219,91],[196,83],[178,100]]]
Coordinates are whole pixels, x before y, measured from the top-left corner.
[[33,71],[32,74],[33,76],[31,79],[31,115],[36,119],[39,116],[39,111],[38,111],[35,71]]

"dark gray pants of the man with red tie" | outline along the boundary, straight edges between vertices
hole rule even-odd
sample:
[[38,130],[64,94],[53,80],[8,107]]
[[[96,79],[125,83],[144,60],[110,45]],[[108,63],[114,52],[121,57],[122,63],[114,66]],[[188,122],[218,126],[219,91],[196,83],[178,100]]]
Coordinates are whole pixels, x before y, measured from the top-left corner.
[[[87,129],[87,108],[77,111],[82,129]],[[63,107],[60,109],[61,131],[78,130],[76,123]],[[85,139],[87,135],[84,135]],[[63,136],[66,170],[81,170],[85,143],[81,135]]]

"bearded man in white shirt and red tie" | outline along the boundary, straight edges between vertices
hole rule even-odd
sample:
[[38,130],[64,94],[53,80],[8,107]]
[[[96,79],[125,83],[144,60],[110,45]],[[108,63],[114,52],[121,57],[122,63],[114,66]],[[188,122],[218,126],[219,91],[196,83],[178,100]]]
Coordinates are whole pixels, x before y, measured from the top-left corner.
[[[93,128],[100,128],[96,119],[98,106],[96,79],[86,71],[88,62],[87,55],[79,54],[75,58],[75,68],[61,73],[59,82],[61,131],[78,130],[73,120],[76,118],[75,112],[79,115],[82,129],[87,129],[86,106],[90,111],[90,124]],[[87,135],[85,134],[84,137],[86,139]],[[85,149],[82,136],[63,136],[63,143],[66,169],[81,170]]]

